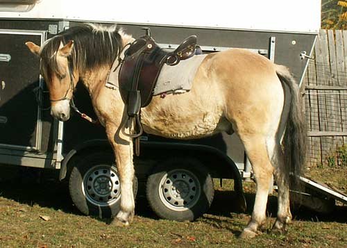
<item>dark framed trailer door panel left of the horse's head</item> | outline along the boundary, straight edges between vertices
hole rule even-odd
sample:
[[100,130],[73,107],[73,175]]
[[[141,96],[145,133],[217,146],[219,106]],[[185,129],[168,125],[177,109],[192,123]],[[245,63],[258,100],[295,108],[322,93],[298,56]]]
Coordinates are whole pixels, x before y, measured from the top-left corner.
[[25,46],[40,35],[7,34],[0,31],[0,53],[11,56],[0,62],[0,115],[8,121],[0,124],[0,143],[35,147],[37,142],[37,103],[34,89],[39,85],[39,61]]

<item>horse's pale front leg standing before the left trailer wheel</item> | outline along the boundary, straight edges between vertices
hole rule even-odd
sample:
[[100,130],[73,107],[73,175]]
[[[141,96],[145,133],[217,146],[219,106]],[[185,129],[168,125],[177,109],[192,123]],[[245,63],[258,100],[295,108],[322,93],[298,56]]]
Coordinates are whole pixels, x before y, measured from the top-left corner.
[[108,139],[115,152],[119,181],[121,184],[121,206],[114,224],[128,226],[133,220],[135,201],[133,195],[133,142],[131,138],[121,133],[114,126],[107,128]]

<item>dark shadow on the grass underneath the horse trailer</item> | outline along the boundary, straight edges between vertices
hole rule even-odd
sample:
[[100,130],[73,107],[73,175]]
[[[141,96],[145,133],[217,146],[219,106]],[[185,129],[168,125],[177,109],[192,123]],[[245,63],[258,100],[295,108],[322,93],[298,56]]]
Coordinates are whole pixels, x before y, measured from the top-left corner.
[[[52,170],[37,170],[29,167],[6,168],[1,166],[0,196],[12,199],[20,204],[27,204],[28,206],[38,205],[61,210],[64,213],[83,215],[71,201],[67,183],[57,180],[57,173]],[[140,188],[144,188],[142,186]],[[200,220],[214,226],[221,226],[224,222],[232,222],[235,229],[230,231],[239,234],[239,230],[242,230],[244,227],[244,222],[237,223],[232,219],[230,213],[244,214],[247,220],[249,220],[253,210],[255,195],[253,193],[245,193],[244,196],[247,210],[243,213],[239,209],[235,192],[216,190],[208,215],[205,215]],[[276,217],[276,213],[277,197],[269,196],[267,215]],[[158,217],[151,210],[146,197],[144,197],[144,192],[141,192],[141,190],[139,190],[137,195],[135,214],[158,220]],[[347,223],[347,206],[336,206],[330,214],[320,214],[301,207],[293,211],[293,217],[294,220],[302,221]],[[97,217],[96,219],[106,224],[110,224],[112,221],[111,219],[100,219]]]

